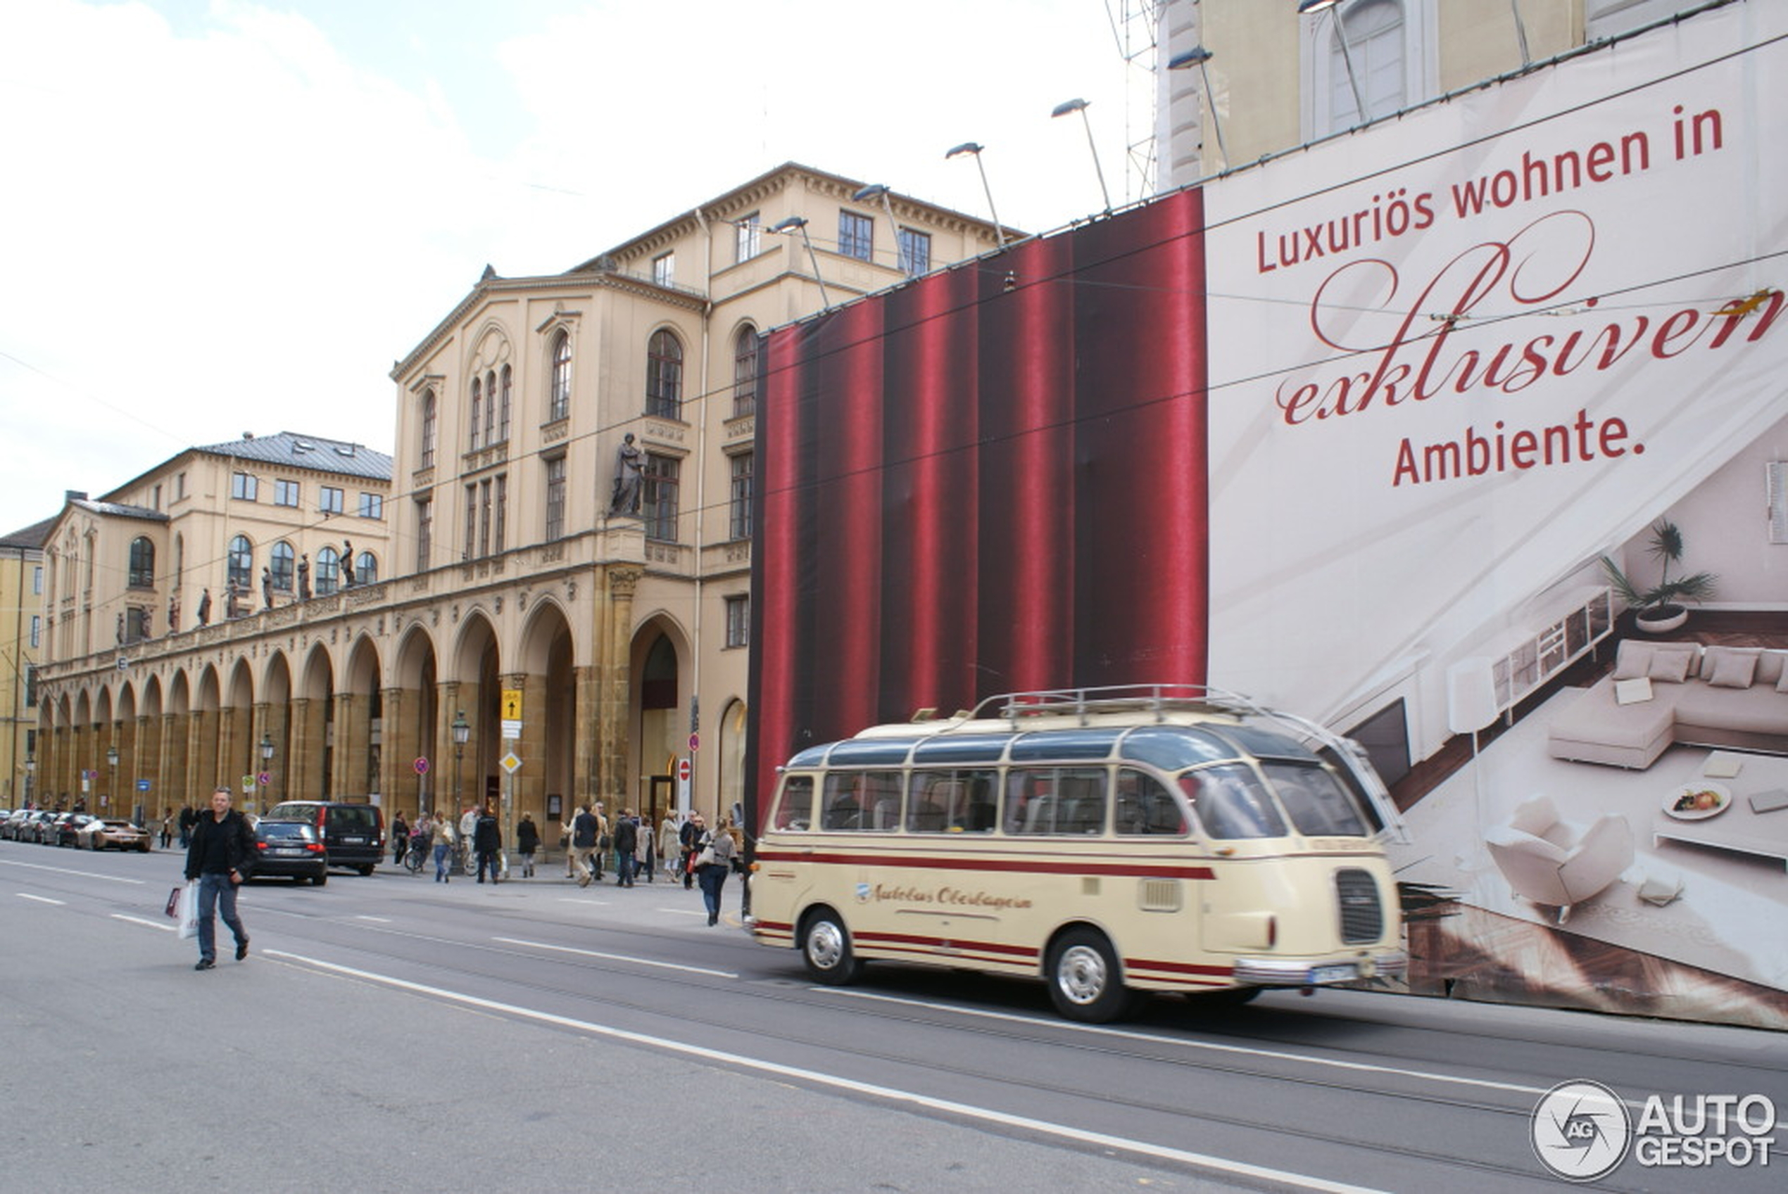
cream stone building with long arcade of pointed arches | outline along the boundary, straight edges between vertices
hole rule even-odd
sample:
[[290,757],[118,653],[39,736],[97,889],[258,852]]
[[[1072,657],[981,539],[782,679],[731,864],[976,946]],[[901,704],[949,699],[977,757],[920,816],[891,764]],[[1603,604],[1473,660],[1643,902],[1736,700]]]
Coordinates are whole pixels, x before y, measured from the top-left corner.
[[[250,806],[493,799],[506,826],[526,811],[549,840],[592,799],[728,810],[744,779],[758,338],[998,243],[983,220],[790,163],[563,273],[486,268],[392,370],[381,536],[372,520],[350,533],[375,576],[336,572],[329,593],[263,608],[274,531],[257,529],[252,610],[222,617],[240,554],[220,531],[152,590],[179,593],[179,629],[134,636],[131,542],[170,551],[177,518],[145,486],[166,486],[173,461],[102,502],[129,508],[102,524],[139,533],[89,531],[72,500],[52,567],[93,590],[52,593],[41,790],[147,779],[148,811],[220,781],[247,781]],[[286,436],[243,443],[272,440]],[[263,493],[281,467],[256,467]],[[227,492],[206,490],[241,526]],[[316,561],[338,534],[293,543]],[[197,627],[202,584],[215,604]],[[125,620],[107,627],[113,606]]]

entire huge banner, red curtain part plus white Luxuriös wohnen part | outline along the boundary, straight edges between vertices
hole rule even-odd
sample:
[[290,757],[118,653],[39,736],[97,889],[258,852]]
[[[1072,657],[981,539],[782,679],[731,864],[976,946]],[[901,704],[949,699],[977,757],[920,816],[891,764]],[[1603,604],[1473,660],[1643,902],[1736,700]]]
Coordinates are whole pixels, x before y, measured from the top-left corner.
[[755,795],[1210,683],[1371,751],[1414,990],[1788,1028],[1783,113],[1734,4],[774,332]]

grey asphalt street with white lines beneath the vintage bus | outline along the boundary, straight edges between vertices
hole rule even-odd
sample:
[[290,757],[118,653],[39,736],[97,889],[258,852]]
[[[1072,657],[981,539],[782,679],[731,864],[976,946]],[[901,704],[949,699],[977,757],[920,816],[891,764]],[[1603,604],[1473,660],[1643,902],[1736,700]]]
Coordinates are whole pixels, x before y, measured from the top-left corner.
[[[1788,1108],[1779,1033],[1370,992],[1091,1028],[1037,983],[821,988],[742,933],[737,879],[708,928],[699,892],[563,863],[252,883],[250,958],[218,926],[197,974],[177,881],[173,854],[0,842],[0,1190],[1534,1190],[1563,1185],[1531,1121],[1564,1081]],[[1784,1167],[1629,1156],[1590,1189]]]

